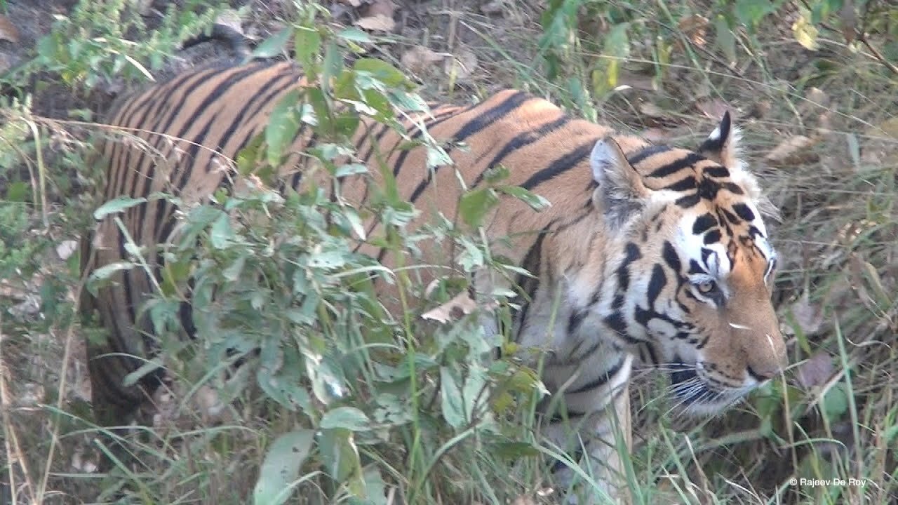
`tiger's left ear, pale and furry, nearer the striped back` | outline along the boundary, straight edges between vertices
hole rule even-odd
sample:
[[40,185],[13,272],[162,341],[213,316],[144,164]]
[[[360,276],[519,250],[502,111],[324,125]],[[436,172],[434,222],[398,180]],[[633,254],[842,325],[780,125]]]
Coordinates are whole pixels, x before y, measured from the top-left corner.
[[589,155],[589,164],[593,169],[593,179],[599,185],[593,193],[593,203],[613,226],[621,226],[628,217],[645,206],[652,191],[629,164],[616,140],[604,137],[596,142]]

